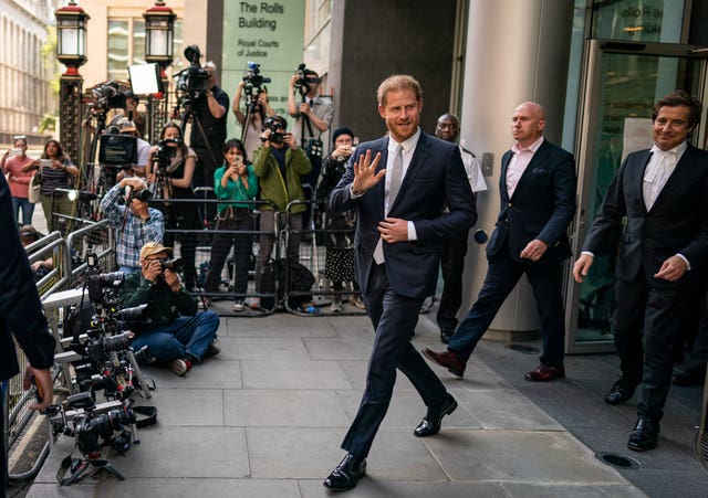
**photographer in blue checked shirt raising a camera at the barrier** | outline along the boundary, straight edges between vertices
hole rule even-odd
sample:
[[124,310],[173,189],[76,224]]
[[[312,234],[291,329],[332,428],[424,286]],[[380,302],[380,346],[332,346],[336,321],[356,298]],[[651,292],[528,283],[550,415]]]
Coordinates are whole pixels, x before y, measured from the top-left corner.
[[139,272],[140,247],[163,240],[165,219],[159,210],[147,206],[150,198],[145,181],[129,177],[113,186],[101,200],[101,210],[116,231],[115,261],[123,273]]

